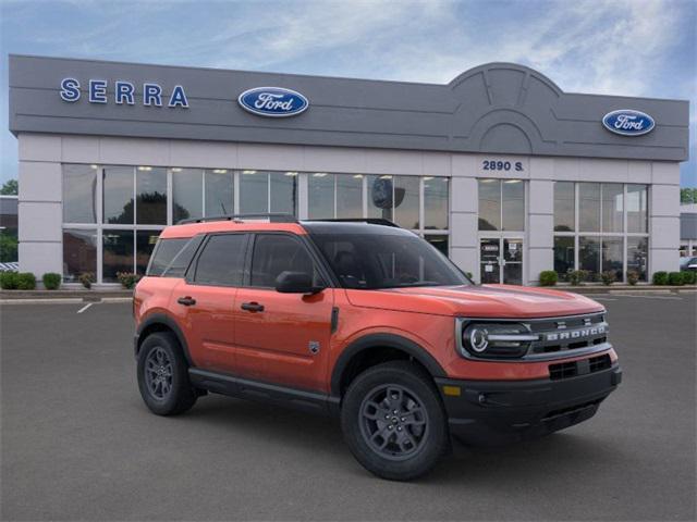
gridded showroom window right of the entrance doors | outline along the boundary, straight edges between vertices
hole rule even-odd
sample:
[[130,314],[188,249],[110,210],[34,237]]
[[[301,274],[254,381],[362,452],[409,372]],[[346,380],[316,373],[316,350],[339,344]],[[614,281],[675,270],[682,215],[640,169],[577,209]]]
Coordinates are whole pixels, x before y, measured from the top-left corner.
[[554,270],[564,281],[575,270],[600,281],[612,272],[626,281],[648,272],[648,186],[554,183]]

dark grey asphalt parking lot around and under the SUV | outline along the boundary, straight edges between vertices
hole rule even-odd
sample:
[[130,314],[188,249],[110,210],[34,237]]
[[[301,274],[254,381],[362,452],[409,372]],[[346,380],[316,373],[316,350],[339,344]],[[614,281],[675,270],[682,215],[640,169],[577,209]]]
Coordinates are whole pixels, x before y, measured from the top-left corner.
[[322,418],[220,396],[150,414],[127,303],[2,306],[2,520],[695,520],[696,296],[597,298],[624,370],[598,415],[407,484]]

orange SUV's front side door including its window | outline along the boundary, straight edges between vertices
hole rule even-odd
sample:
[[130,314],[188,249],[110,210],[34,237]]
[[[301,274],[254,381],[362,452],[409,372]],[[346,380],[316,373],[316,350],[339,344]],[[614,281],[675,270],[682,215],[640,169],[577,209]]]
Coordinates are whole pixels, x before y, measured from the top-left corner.
[[236,373],[325,390],[333,289],[315,295],[278,293],[276,278],[283,271],[313,274],[321,286],[327,286],[326,274],[296,235],[257,233],[250,243],[249,270],[234,307]]

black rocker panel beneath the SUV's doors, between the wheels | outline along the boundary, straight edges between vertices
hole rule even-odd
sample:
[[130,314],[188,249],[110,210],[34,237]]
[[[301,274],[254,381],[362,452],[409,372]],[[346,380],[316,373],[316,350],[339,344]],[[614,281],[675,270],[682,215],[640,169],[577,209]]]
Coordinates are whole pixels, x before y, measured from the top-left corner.
[[337,415],[339,412],[339,397],[331,397],[317,391],[249,381],[197,368],[188,369],[188,378],[197,388],[204,388],[213,394],[256,400],[323,415]]

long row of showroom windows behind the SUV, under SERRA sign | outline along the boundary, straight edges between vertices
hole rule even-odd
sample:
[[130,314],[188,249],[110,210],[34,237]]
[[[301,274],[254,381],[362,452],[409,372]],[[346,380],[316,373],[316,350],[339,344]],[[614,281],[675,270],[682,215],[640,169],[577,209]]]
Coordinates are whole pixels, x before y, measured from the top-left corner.
[[449,198],[435,176],[63,164],[63,274],[144,274],[164,226],[231,213],[394,219],[448,254]]

